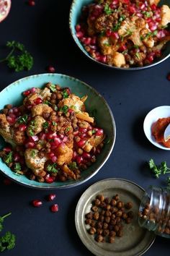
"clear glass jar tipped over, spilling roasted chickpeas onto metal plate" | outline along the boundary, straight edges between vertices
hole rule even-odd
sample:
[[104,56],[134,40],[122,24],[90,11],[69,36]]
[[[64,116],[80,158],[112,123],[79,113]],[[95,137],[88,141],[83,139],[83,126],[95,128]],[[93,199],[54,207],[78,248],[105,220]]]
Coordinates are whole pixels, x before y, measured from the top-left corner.
[[170,238],[170,189],[150,186],[140,203],[138,223],[159,236]]

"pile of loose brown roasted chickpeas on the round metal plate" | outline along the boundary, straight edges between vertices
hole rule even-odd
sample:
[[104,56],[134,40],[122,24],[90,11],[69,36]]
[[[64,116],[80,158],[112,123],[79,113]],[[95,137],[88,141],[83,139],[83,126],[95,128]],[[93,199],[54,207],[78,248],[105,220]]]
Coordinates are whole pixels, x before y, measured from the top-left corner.
[[88,232],[94,235],[97,242],[115,242],[115,236],[123,236],[123,222],[130,224],[134,213],[132,202],[120,201],[120,196],[115,195],[111,199],[104,195],[97,195],[92,202],[91,211],[86,213],[86,225]]

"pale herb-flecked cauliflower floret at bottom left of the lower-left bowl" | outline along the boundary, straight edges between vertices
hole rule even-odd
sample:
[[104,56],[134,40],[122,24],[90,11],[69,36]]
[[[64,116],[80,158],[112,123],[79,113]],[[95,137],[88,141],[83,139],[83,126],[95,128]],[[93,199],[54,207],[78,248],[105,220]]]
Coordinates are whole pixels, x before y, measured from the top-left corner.
[[45,156],[40,158],[38,156],[38,150],[27,148],[24,152],[25,162],[28,168],[32,169],[32,172],[35,176],[45,176],[44,165],[45,162],[48,160]]

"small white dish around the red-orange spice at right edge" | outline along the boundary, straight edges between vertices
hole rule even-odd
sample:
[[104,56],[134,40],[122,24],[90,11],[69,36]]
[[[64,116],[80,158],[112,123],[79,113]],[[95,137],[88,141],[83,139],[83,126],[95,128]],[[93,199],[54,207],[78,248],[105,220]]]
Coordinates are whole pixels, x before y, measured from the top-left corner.
[[156,142],[155,138],[152,135],[151,127],[155,121],[159,118],[169,117],[170,116],[170,106],[158,106],[153,108],[148,114],[143,122],[143,129],[148,140],[155,145],[157,148],[163,150],[170,150],[170,148],[164,147],[161,143]]

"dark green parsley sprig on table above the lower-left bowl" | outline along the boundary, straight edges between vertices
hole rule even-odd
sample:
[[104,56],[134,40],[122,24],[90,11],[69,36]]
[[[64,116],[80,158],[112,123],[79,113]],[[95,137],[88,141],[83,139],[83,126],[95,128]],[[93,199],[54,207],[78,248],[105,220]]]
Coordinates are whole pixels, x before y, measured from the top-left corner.
[[33,58],[31,54],[25,50],[22,43],[9,41],[6,43],[6,46],[12,50],[6,58],[1,59],[0,62],[6,61],[7,66],[10,69],[14,69],[15,72],[19,72],[24,69],[30,70],[32,68]]

